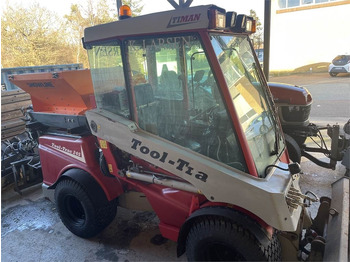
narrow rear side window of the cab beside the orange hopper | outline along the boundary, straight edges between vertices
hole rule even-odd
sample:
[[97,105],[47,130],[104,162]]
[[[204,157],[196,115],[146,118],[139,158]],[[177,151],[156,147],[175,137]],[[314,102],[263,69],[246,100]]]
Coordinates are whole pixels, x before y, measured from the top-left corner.
[[97,108],[130,118],[119,44],[92,46],[88,56]]

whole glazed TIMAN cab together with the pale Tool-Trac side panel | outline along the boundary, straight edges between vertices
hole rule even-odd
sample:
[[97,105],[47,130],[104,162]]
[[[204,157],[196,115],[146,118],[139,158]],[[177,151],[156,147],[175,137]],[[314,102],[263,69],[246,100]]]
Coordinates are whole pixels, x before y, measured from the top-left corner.
[[214,5],[123,18],[83,39],[96,99],[85,115],[107,175],[166,177],[294,231],[298,168],[249,38],[253,18]]

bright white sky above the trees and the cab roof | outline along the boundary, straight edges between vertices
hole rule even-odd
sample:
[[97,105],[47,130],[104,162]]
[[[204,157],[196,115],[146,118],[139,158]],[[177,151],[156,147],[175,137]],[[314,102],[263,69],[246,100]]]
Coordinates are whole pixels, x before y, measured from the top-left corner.
[[[116,7],[115,0],[108,1],[111,8]],[[175,1],[178,2],[178,0]],[[239,14],[249,14],[249,10],[253,9],[260,18],[260,21],[263,21],[264,2],[264,0],[193,0],[191,6],[214,4],[226,9],[226,11],[235,11]],[[71,4],[82,4],[84,0],[2,0],[1,8],[3,9],[6,4],[10,6],[18,4],[27,7],[33,3],[38,3],[40,6],[46,7],[63,17],[65,14],[69,14]],[[142,3],[144,5],[142,14],[173,9],[167,0],[143,0]]]

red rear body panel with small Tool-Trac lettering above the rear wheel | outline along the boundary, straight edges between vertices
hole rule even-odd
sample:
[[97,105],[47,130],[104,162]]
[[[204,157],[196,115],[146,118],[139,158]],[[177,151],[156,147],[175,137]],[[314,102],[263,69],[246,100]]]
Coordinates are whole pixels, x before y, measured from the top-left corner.
[[44,183],[51,186],[68,169],[79,168],[88,172],[101,185],[109,200],[124,192],[117,178],[104,176],[96,159],[96,138],[71,138],[45,135],[39,138],[39,153]]

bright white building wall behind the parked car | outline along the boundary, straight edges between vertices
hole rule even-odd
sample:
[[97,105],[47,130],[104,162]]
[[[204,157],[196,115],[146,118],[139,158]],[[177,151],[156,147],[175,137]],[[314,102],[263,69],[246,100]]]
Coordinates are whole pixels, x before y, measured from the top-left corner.
[[290,8],[288,2],[299,0],[272,0],[270,71],[330,63],[336,55],[350,54],[350,0]]

